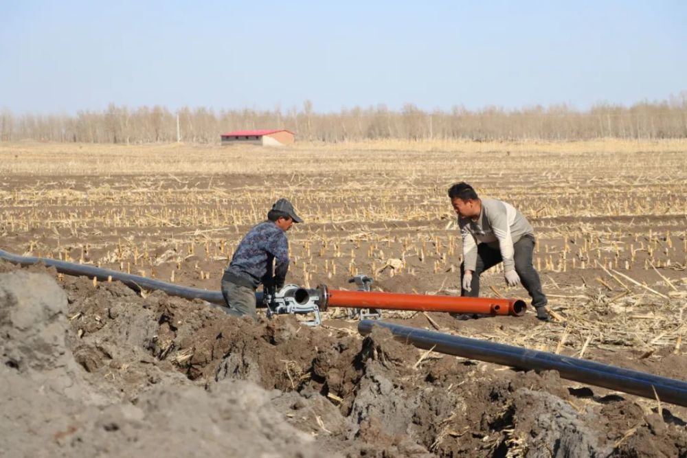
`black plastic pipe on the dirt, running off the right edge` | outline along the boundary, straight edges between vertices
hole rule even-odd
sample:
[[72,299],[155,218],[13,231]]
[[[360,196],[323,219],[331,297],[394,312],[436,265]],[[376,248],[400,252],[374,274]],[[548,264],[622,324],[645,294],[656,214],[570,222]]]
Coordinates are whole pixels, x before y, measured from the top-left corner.
[[387,328],[399,341],[411,343],[424,350],[433,349],[435,352],[519,369],[559,371],[561,377],[568,380],[623,391],[644,398],[656,399],[658,397],[662,402],[687,407],[687,382],[683,380],[503,343],[409,328],[384,321],[363,320],[358,323],[358,332],[362,335],[370,334],[374,325]]

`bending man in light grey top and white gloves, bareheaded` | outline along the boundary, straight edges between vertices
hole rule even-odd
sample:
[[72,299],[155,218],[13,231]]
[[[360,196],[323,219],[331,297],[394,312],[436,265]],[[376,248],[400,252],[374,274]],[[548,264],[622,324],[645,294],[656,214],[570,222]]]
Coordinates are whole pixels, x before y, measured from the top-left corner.
[[532,297],[537,318],[548,321],[548,300],[541,290],[539,274],[532,266],[534,230],[528,220],[513,205],[480,198],[467,183],[451,186],[449,198],[458,214],[463,240],[460,295],[479,297],[482,272],[503,262],[506,284],[522,283]]

